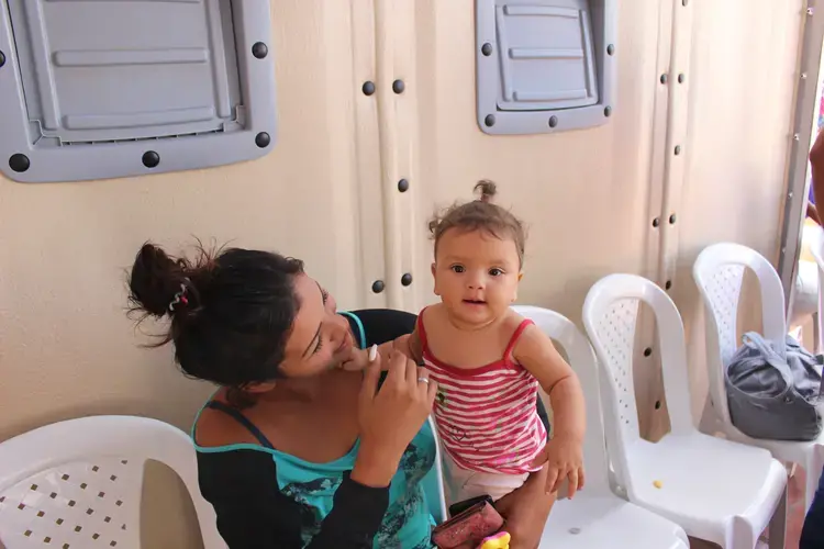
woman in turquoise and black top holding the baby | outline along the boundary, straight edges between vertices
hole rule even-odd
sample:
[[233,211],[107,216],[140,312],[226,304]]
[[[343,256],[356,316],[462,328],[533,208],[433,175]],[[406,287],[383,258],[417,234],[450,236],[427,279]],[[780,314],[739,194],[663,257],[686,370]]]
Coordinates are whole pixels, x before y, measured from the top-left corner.
[[[377,361],[343,368],[357,348],[411,333],[414,315],[338,314],[301,261],[245,249],[191,262],[144,245],[130,289],[134,311],[170,317],[158,345],[220,386],[192,438],[230,547],[431,547],[420,481],[435,459],[435,383],[400,354],[382,383]],[[497,504],[513,549],[538,545],[555,500],[545,482],[546,468]]]

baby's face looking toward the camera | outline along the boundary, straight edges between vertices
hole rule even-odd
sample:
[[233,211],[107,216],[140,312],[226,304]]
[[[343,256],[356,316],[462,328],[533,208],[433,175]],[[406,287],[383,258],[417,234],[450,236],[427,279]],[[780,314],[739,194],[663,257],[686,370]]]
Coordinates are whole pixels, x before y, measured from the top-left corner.
[[438,242],[432,273],[435,294],[450,315],[468,325],[488,324],[517,298],[517,248],[510,238],[453,228]]

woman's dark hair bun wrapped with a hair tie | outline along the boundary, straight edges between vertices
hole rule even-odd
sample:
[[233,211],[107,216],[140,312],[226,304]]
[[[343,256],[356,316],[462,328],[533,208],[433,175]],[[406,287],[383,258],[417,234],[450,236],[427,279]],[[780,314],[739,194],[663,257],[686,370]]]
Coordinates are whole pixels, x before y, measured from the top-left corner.
[[154,244],[144,244],[129,280],[134,309],[157,317],[169,314],[169,305],[181,292],[181,284],[188,284],[188,270],[186,260],[172,259]]

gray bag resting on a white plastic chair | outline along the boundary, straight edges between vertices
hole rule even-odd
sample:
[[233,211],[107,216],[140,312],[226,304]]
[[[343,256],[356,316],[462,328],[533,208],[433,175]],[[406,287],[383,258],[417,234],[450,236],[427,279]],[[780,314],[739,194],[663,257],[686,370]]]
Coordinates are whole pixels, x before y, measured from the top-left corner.
[[822,357],[791,336],[786,345],[750,332],[724,372],[730,416],[753,438],[814,440],[821,433]]

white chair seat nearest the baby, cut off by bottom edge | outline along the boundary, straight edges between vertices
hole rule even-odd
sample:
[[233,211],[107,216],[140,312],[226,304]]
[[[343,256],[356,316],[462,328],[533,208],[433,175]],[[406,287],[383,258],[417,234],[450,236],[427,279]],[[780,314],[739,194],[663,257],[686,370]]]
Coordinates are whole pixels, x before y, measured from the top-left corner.
[[611,493],[588,494],[555,504],[539,548],[688,549],[683,529]]

